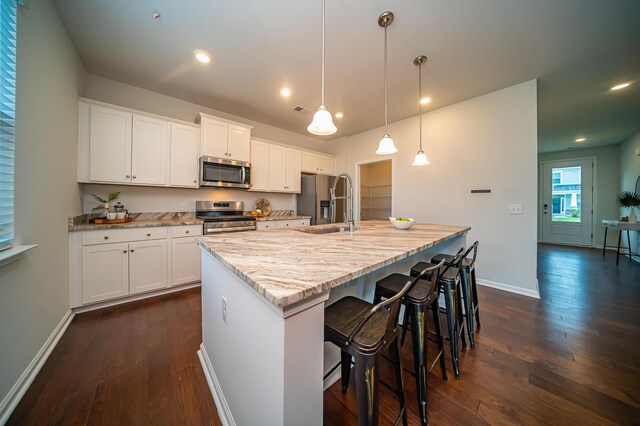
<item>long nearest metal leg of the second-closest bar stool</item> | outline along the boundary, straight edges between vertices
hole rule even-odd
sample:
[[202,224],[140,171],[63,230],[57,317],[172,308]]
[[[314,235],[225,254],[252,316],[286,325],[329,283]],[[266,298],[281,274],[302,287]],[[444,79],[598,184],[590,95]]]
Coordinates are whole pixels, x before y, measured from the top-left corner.
[[427,424],[427,346],[425,341],[424,306],[413,306],[411,321],[411,343],[413,343],[413,368],[416,374],[418,412],[422,425]]

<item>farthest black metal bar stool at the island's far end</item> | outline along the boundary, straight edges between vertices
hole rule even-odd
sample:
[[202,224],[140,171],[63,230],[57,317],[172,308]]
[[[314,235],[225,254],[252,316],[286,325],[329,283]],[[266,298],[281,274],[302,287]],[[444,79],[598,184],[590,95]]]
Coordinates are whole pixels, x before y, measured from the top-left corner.
[[[475,347],[473,316],[476,317],[476,326],[480,328],[480,311],[478,309],[478,287],[476,284],[476,256],[478,255],[478,244],[476,241],[462,255],[460,263],[460,281],[462,287],[462,300],[464,301],[464,317],[467,320],[467,332],[469,334],[469,343],[471,347]],[[469,254],[472,253],[471,256]],[[453,256],[450,254],[440,253],[431,258],[431,263],[438,263],[444,260],[450,263]]]

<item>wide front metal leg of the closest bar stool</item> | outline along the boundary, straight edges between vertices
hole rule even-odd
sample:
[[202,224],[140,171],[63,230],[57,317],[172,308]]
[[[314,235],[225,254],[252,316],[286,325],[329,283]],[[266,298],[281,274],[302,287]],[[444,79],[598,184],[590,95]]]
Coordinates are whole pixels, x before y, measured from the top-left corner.
[[378,425],[378,356],[356,355],[358,425]]

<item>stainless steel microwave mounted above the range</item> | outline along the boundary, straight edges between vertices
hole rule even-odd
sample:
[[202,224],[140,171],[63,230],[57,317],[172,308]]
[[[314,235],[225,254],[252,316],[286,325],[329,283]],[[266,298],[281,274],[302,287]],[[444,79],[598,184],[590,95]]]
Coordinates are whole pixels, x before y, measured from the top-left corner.
[[227,158],[200,157],[200,186],[251,188],[251,163]]

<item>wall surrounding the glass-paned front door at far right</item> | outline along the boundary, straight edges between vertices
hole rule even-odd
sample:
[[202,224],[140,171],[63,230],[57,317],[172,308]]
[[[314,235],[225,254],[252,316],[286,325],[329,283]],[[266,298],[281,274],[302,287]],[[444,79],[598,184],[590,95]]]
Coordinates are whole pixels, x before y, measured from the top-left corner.
[[[570,151],[552,152],[540,154],[538,160],[543,161],[568,160],[574,158],[594,157],[596,160],[596,174],[593,176],[596,189],[594,198],[594,241],[595,247],[602,248],[604,243],[604,227],[602,219],[618,219],[618,206],[616,194],[619,186],[619,162],[620,149],[618,145],[603,146],[598,148],[575,149]],[[542,191],[542,188],[538,188]],[[540,194],[538,194],[540,195]],[[541,224],[538,224],[540,232]],[[540,238],[538,233],[538,238]],[[608,244],[611,244],[611,236],[608,236]]]

